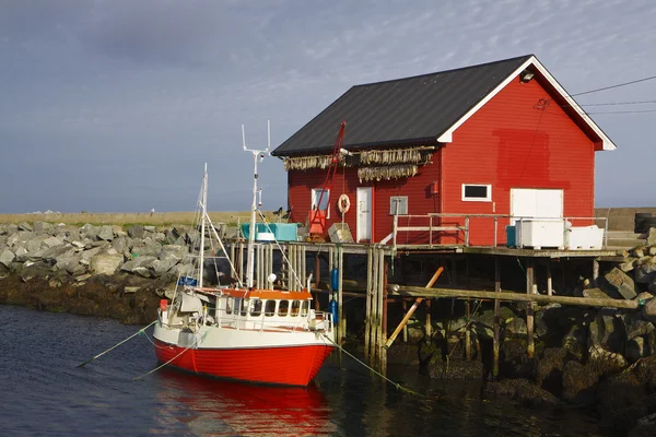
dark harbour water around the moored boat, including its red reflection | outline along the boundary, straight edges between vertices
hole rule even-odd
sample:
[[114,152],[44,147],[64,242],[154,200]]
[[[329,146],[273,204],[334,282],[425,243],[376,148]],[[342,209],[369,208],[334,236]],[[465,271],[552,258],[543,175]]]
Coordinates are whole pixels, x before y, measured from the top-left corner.
[[[156,367],[143,335],[75,367],[139,327],[1,306],[0,409],[5,436],[582,436],[595,418],[485,402],[476,383],[444,385],[406,366],[389,376],[426,393],[373,381],[344,357],[309,389],[267,388]],[[150,330],[149,330],[150,333]],[[409,357],[410,359],[410,357]]]

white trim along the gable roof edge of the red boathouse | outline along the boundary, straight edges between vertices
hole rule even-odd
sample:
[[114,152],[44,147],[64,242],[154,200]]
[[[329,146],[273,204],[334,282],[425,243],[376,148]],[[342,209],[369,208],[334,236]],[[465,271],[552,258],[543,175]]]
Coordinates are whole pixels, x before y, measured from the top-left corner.
[[492,90],[482,101],[480,101],[475,107],[469,109],[467,114],[465,114],[458,121],[456,121],[450,128],[448,128],[442,135],[437,138],[437,141],[441,143],[450,143],[454,139],[454,132],[456,129],[460,127],[465,121],[469,119],[472,115],[476,114],[484,104],[490,102],[492,97],[501,92],[511,81],[513,81],[520,72],[523,72],[528,66],[532,64],[538,71],[549,81],[551,86],[570,104],[572,109],[574,109],[581,118],[589,126],[589,128],[601,139],[601,150],[616,150],[617,146],[604,133],[601,129],[591,120],[591,118],[585,114],[585,111],[578,106],[576,102],[572,98],[570,94],[557,82],[557,80],[547,71],[544,66],[538,61],[535,56],[528,58],[526,62],[524,62],[519,68],[517,68],[512,74],[509,74],[502,83],[499,84],[494,90]]

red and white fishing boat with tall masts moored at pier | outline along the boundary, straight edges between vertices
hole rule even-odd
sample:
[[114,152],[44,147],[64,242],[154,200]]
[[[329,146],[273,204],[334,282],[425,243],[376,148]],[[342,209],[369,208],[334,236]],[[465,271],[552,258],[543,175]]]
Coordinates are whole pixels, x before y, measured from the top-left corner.
[[[248,150],[244,140],[244,150],[253,153],[255,162],[246,283],[210,286],[203,279],[206,258],[213,259],[206,257],[206,247],[213,247],[208,238],[226,253],[207,213],[206,165],[198,202],[199,253],[192,257],[192,273],[178,279],[171,303],[160,303],[153,343],[159,362],[178,369],[237,381],[307,386],[335,347],[332,315],[313,308],[309,280],[300,291],[274,290],[271,273],[270,288],[253,286],[257,163],[268,149]],[[235,267],[226,261],[237,277]]]

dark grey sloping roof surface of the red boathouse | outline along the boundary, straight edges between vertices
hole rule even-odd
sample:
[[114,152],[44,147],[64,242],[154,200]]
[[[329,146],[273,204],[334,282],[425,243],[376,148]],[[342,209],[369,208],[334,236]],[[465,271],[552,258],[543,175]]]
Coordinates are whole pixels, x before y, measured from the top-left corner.
[[353,86],[271,154],[329,152],[342,120],[344,149],[434,144],[531,56]]

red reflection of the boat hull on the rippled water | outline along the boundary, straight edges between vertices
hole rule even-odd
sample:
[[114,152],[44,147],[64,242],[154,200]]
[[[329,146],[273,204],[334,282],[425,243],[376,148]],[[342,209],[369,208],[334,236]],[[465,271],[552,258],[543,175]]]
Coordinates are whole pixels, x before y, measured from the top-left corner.
[[[202,436],[317,436],[333,435],[330,408],[314,386],[273,387],[199,378],[176,370],[159,373],[163,412],[172,428]],[[176,402],[171,402],[171,401]],[[169,408],[171,408],[169,406]],[[176,423],[177,422],[177,423]]]

